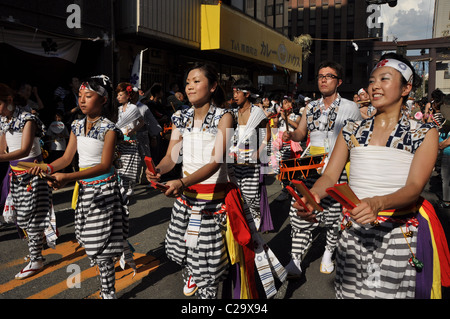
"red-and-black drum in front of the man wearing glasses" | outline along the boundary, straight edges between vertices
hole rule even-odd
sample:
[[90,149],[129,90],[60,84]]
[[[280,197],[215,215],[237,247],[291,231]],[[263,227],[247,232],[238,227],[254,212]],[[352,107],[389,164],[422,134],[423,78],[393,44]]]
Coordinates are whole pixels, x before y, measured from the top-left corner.
[[278,179],[281,181],[292,181],[293,179],[305,180],[308,177],[318,178],[322,167],[325,165],[327,154],[328,153],[290,158],[281,161]]

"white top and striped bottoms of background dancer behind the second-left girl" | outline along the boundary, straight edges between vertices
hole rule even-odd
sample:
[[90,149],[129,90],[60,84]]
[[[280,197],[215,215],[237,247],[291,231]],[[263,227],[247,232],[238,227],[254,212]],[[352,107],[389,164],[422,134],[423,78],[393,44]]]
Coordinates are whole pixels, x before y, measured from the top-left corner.
[[[125,112],[123,111],[123,105],[119,106],[117,127],[122,130],[124,138],[117,144],[120,161],[122,162],[122,167],[117,169],[117,174],[122,179],[128,195],[133,193],[133,187],[139,177],[138,174],[141,168],[141,155],[139,153],[137,134],[135,133],[131,136],[125,135],[137,126],[138,118],[136,116],[140,116],[136,105],[128,103]],[[126,121],[130,117],[132,120]],[[121,125],[123,122],[124,125]]]

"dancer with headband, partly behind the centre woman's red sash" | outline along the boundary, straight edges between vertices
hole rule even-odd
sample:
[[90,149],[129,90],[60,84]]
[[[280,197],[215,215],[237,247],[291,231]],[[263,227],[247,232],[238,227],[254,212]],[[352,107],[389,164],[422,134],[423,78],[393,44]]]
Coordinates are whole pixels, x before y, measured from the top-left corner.
[[232,109],[235,131],[231,138],[231,163],[228,164],[231,183],[241,190],[244,214],[252,235],[255,265],[267,298],[275,295],[275,274],[281,282],[286,271],[259,234],[273,230],[265,174],[261,168],[268,163],[266,145],[271,138],[264,111],[252,104],[252,83],[240,79],[233,84],[233,99],[238,106]]

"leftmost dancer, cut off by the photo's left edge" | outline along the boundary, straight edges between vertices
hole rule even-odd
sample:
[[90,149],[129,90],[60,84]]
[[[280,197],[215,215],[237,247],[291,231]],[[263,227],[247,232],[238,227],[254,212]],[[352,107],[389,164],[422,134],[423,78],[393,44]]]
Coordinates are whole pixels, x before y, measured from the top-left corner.
[[[6,201],[15,208],[17,226],[28,240],[30,262],[15,276],[25,279],[44,266],[44,235],[51,247],[54,247],[56,237],[45,234],[49,227],[52,228],[51,220],[54,219],[52,194],[47,182],[18,166],[18,162],[43,163],[39,140],[45,134],[45,127],[36,115],[16,105],[14,97],[14,91],[0,83],[0,161],[10,163],[10,173],[4,181],[10,187]],[[53,226],[53,232],[56,232],[55,224]]]

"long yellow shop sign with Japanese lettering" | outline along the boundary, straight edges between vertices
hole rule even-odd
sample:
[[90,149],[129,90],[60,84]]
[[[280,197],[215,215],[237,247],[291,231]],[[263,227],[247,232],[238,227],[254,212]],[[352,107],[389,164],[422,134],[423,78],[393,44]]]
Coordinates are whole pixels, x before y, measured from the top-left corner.
[[302,70],[302,48],[278,32],[226,6],[201,7],[201,49]]

